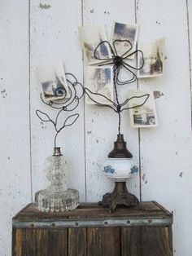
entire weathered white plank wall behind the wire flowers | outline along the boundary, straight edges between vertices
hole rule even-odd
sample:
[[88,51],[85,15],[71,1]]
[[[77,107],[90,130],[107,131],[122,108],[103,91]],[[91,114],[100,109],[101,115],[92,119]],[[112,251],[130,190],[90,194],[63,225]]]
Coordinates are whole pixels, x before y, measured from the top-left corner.
[[[140,89],[159,90],[164,95],[156,99],[159,127],[141,130],[141,148],[137,129],[130,128],[129,113],[124,113],[122,118],[122,133],[133,152],[135,165],[139,166],[140,157],[142,160],[142,200],[156,200],[173,210],[175,255],[191,254],[192,135],[187,11],[191,54],[192,1],[135,2],[34,0],[30,1],[29,14],[28,1],[0,2],[0,255],[11,255],[11,217],[31,201],[37,190],[48,184],[43,170],[46,157],[52,153],[54,130],[39,121],[35,110],[40,108],[53,117],[55,111],[41,103],[35,66],[62,60],[66,72],[76,74],[82,82],[83,63],[77,27],[82,21],[84,24],[104,24],[109,37],[113,20],[134,23],[135,18],[140,26],[140,42],[166,38],[164,76],[139,80]],[[120,89],[121,96],[124,98],[129,88],[136,87],[136,83],[124,86]],[[110,109],[86,105],[84,120],[83,102],[79,113],[81,117],[76,124],[59,135],[59,145],[70,168],[70,186],[80,191],[81,201],[99,201],[114,186],[103,176],[102,164],[116,140],[117,117]],[[32,122],[32,183],[29,115]],[[131,183],[131,191],[139,196],[138,179]]]

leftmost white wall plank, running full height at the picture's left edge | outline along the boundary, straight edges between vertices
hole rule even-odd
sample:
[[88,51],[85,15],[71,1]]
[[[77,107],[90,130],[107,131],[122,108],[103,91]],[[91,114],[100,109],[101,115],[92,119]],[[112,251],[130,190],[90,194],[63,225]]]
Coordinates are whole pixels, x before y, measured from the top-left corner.
[[0,2],[0,255],[11,255],[11,218],[30,197],[28,2]]

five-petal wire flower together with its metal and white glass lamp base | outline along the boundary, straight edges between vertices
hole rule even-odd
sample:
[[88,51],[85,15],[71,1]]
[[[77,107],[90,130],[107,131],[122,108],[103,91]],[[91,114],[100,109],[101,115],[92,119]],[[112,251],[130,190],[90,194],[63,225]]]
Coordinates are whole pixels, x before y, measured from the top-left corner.
[[[118,55],[118,51],[116,46],[120,43],[127,44],[127,51],[124,52],[123,55]],[[99,58],[96,54],[98,48],[102,45],[108,46],[111,50],[111,58]],[[115,180],[115,188],[111,193],[107,193],[103,196],[103,201],[100,203],[102,205],[108,205],[110,212],[114,212],[116,210],[116,205],[137,205],[138,199],[136,196],[130,194],[126,188],[126,180],[133,178],[133,174],[131,173],[131,161],[133,159],[132,154],[126,148],[126,142],[124,141],[124,135],[121,135],[121,113],[123,111],[129,110],[131,108],[142,107],[149,98],[149,94],[141,95],[141,96],[133,96],[131,98],[125,99],[120,103],[117,85],[123,86],[126,84],[133,83],[137,80],[137,75],[134,73],[136,70],[142,69],[144,65],[144,56],[142,51],[136,50],[133,51],[133,45],[128,40],[114,40],[112,45],[103,41],[98,44],[98,46],[94,50],[94,58],[96,60],[103,60],[105,63],[102,65],[112,64],[113,68],[113,86],[115,92],[115,101],[107,98],[106,95],[102,95],[98,92],[93,92],[89,90],[89,88],[85,87],[85,94],[89,97],[90,100],[94,102],[94,104],[98,104],[99,107],[111,108],[118,115],[118,135],[117,140],[114,143],[113,150],[108,154],[107,161],[104,163],[103,171],[107,175],[107,178]],[[136,55],[137,58],[139,56],[141,60],[141,64],[137,67],[132,64],[128,64],[126,62],[127,58]],[[125,81],[120,80],[120,70],[124,68],[124,70],[128,73],[128,77]],[[97,96],[97,100],[93,97]],[[129,102],[134,98],[143,98],[142,104],[138,104],[137,106],[129,105]],[[105,102],[108,104],[103,104],[102,99],[105,99]]]

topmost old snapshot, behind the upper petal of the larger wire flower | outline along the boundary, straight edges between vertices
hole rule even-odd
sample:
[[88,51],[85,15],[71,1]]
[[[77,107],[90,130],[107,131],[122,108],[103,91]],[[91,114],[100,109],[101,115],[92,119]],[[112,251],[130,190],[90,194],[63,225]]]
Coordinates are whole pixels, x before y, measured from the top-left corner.
[[[132,45],[132,50],[129,54],[136,50],[138,26],[137,24],[123,24],[119,22],[114,22],[112,29],[111,41],[114,40],[128,40]],[[131,47],[129,42],[116,42],[116,51],[118,55],[124,55]],[[125,56],[125,55],[124,55]],[[129,59],[134,59],[134,55],[129,56]]]

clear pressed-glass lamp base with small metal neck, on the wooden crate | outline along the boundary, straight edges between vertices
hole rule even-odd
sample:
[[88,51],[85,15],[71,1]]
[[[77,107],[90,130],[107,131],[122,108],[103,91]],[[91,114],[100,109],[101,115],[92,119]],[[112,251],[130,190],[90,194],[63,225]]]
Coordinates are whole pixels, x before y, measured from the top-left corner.
[[68,188],[68,166],[60,148],[54,148],[52,157],[48,157],[50,166],[46,169],[46,177],[50,186],[35,194],[37,209],[44,212],[63,212],[73,210],[79,205],[79,192]]

